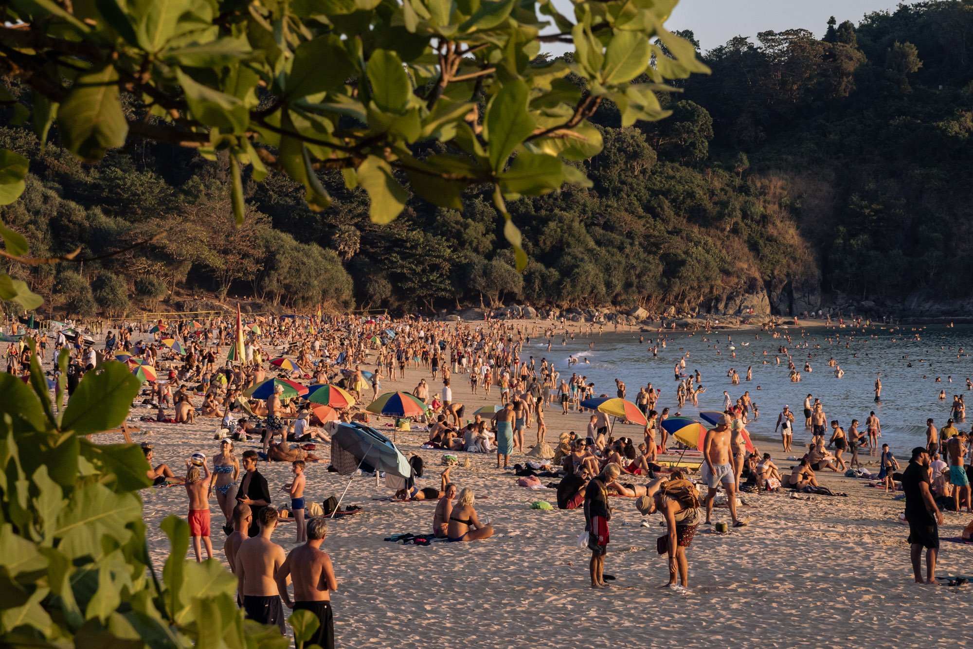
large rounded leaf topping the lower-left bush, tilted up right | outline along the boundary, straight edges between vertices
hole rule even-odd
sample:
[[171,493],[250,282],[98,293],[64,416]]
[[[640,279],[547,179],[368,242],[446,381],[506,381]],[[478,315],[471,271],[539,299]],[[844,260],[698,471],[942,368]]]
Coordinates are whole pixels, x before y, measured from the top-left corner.
[[125,421],[141,385],[125,363],[108,361],[85,375],[64,410],[60,429],[79,435],[115,428]]

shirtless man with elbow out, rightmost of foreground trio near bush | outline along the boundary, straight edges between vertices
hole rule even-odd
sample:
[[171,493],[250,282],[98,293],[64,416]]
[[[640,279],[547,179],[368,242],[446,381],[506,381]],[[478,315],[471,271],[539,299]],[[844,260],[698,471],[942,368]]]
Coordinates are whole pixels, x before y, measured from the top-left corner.
[[[307,542],[295,548],[284,559],[274,575],[277,590],[287,608],[295,611],[310,611],[317,617],[317,631],[306,641],[322,649],[335,647],[335,618],[331,610],[331,591],[338,590],[338,580],[331,557],[321,550],[321,542],[328,534],[328,523],[324,517],[316,517],[307,522]],[[287,578],[294,583],[294,601],[287,593]]]

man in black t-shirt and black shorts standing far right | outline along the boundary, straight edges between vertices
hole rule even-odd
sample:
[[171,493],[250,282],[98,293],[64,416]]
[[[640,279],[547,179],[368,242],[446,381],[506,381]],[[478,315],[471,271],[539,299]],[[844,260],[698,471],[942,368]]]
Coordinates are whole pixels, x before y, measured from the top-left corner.
[[[902,473],[902,490],[906,494],[906,521],[909,522],[909,549],[917,584],[934,584],[936,554],[939,551],[939,525],[943,514],[936,507],[929,487],[929,451],[913,449],[909,466]],[[922,548],[925,548],[926,578],[922,579]]]

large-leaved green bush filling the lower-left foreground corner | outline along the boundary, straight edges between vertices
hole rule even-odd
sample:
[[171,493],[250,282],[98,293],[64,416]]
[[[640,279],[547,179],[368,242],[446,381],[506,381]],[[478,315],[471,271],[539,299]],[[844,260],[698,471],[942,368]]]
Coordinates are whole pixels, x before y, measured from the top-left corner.
[[161,573],[149,558],[145,456],[86,439],[121,424],[138,388],[109,361],[62,409],[36,357],[29,385],[0,375],[0,646],[284,649],[276,628],[243,619],[228,570],[186,560],[185,521],[162,522]]

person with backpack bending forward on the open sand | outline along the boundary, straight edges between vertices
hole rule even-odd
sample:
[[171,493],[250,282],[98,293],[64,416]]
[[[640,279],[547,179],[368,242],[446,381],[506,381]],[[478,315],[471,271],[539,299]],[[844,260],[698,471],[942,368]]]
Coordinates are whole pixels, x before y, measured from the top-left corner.
[[[689,590],[689,561],[686,550],[693,542],[700,524],[700,492],[681,471],[673,471],[672,478],[663,483],[651,497],[642,496],[635,501],[635,509],[642,516],[660,512],[666,521],[668,533],[660,536],[656,550],[668,555],[669,581],[667,587],[682,594]],[[676,576],[679,583],[676,583]]]

